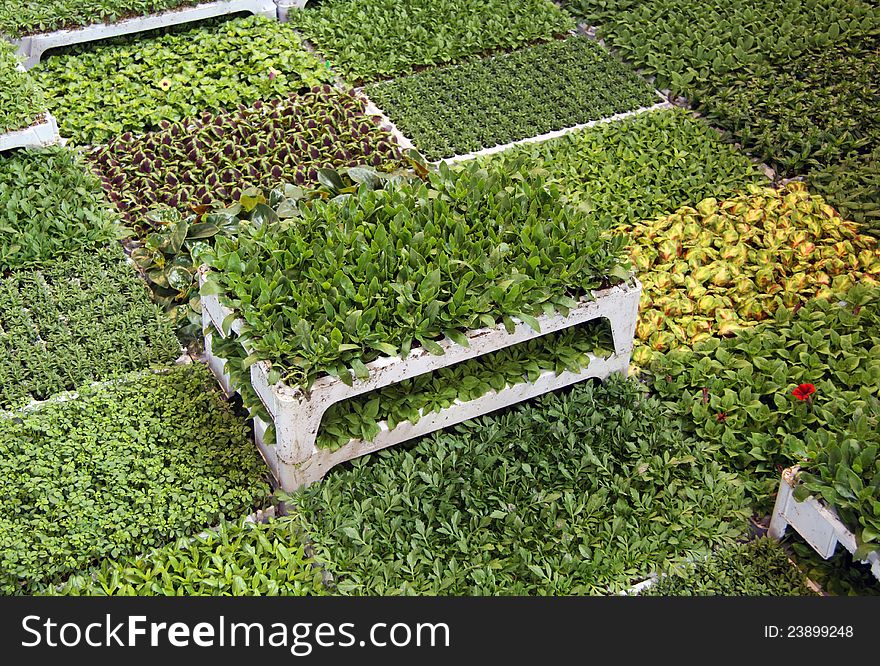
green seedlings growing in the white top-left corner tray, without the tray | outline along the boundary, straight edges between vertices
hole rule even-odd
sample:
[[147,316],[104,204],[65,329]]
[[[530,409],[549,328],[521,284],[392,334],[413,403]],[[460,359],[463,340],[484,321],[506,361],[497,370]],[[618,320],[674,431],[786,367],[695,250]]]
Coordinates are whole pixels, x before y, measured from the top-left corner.
[[4,0],[0,7],[0,34],[20,37],[93,23],[115,23],[201,2],[205,0]]

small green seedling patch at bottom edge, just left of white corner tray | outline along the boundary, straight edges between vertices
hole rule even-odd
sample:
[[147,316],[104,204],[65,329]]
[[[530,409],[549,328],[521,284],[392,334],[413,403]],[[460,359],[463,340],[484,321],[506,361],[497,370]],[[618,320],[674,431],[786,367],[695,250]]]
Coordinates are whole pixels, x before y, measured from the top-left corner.
[[763,538],[712,553],[664,575],[642,596],[810,596],[804,574],[778,542]]

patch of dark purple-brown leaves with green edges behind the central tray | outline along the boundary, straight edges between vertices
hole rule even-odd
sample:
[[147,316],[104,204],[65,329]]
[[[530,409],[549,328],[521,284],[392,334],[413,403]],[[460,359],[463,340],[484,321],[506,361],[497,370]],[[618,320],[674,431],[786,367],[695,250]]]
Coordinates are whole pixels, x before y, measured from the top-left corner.
[[90,155],[110,199],[136,229],[152,226],[143,216],[156,206],[188,212],[231,205],[249,187],[317,185],[321,169],[404,164],[363,100],[329,85],[164,127],[126,133]]

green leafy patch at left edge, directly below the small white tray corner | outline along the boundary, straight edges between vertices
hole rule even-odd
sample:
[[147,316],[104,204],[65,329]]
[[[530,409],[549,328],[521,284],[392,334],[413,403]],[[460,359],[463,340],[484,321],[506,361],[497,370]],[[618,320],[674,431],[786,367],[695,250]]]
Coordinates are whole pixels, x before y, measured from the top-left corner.
[[0,276],[115,238],[100,181],[64,148],[0,155]]

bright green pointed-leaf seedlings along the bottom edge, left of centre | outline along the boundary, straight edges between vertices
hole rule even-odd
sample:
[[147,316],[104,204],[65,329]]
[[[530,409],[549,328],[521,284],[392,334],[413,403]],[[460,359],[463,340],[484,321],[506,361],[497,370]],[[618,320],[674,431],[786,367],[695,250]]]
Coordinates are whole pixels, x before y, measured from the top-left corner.
[[[50,590],[55,592],[55,590]],[[323,594],[321,571],[305,556],[297,523],[222,523],[141,557],[107,560],[72,577],[67,595],[300,597]]]

